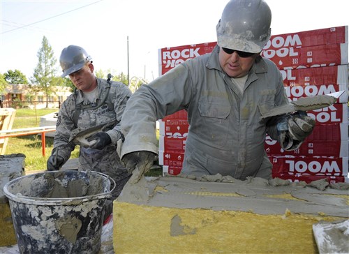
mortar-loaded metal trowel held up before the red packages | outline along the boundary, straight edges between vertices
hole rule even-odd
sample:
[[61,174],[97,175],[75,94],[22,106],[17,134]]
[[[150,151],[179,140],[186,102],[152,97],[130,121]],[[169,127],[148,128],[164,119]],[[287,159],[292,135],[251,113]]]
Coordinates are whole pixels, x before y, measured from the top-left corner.
[[339,96],[341,96],[343,93],[344,91],[337,91],[332,94],[301,97],[298,100],[288,103],[287,105],[272,108],[272,110],[262,114],[261,119],[297,111],[306,112],[309,110],[320,110],[323,107],[329,107],[330,105],[336,103]]

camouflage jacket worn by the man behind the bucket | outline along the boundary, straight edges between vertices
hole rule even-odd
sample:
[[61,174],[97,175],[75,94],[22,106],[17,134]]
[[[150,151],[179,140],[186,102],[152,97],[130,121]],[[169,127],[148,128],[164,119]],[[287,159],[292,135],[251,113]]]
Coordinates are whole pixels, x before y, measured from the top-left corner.
[[[80,147],[79,170],[95,170],[105,172],[110,170],[126,171],[124,165],[121,164],[120,158],[116,152],[117,140],[120,139],[120,121],[126,102],[131,96],[131,91],[121,82],[110,82],[107,80],[96,78],[98,87],[98,98],[95,103],[89,103],[84,100],[82,92],[75,90],[73,94],[62,103],[59,110],[56,135],[54,136],[54,150],[59,149],[59,155],[64,155],[64,161],[68,160],[74,146],[65,147],[69,141],[70,133],[77,128],[85,130],[94,126],[109,123],[116,120],[113,129],[107,130],[110,135],[112,144],[102,150]],[[100,103],[105,98],[104,103]],[[80,114],[77,123],[74,120],[74,112],[77,105],[81,105]],[[99,107],[96,108],[96,106]],[[75,126],[76,124],[76,126]],[[125,173],[126,174],[126,173]]]

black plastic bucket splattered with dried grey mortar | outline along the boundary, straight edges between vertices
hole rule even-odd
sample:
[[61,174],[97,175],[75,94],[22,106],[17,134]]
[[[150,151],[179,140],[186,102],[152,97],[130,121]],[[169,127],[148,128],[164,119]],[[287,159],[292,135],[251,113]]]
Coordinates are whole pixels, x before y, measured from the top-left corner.
[[111,182],[106,174],[76,170],[9,181],[3,191],[20,253],[98,253]]

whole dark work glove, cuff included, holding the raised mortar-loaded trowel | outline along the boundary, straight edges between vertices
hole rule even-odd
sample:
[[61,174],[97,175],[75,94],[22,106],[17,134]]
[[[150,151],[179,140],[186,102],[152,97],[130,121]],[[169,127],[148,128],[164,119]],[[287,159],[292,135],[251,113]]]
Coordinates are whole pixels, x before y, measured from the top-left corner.
[[292,151],[300,147],[315,127],[315,120],[306,112],[295,112],[292,117],[278,124],[278,139],[281,147]]

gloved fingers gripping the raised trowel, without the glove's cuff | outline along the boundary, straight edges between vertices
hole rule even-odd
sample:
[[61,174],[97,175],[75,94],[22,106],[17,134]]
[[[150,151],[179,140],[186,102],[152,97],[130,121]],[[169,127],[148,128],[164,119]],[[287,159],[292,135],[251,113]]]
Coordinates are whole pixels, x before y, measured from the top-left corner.
[[288,119],[288,131],[293,140],[304,141],[315,127],[315,120],[308,117],[306,113],[296,112]]

